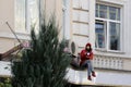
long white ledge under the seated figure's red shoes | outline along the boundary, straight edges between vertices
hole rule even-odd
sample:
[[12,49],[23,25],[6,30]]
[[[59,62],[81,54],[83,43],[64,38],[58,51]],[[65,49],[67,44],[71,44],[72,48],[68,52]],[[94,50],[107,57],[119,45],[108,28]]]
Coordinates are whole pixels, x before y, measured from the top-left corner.
[[68,69],[68,82],[74,85],[93,85],[99,87],[131,87],[131,73],[128,72],[95,70],[96,77],[94,77],[91,82],[87,80],[86,71],[75,71],[72,69]]

